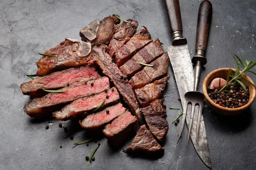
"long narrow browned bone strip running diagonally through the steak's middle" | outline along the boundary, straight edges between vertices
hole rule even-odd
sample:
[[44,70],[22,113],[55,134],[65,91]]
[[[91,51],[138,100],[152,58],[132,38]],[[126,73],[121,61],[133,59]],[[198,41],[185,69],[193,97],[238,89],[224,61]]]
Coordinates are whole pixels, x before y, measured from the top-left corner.
[[131,85],[129,85],[128,81],[124,79],[124,75],[121,73],[116,64],[112,62],[111,57],[104,51],[103,48],[93,48],[93,52],[94,61],[102,69],[103,74],[111,79],[119,93],[123,96],[125,102],[131,108],[131,111],[141,122],[140,108]]

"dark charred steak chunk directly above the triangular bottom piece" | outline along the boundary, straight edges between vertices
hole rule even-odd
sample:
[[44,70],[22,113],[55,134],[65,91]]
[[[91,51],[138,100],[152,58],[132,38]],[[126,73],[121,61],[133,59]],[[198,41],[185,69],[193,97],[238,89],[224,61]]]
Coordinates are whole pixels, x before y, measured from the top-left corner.
[[169,129],[165,119],[167,116],[166,110],[163,108],[162,102],[159,99],[151,104],[146,108],[142,108],[141,113],[148,124],[149,130],[160,142],[163,142]]

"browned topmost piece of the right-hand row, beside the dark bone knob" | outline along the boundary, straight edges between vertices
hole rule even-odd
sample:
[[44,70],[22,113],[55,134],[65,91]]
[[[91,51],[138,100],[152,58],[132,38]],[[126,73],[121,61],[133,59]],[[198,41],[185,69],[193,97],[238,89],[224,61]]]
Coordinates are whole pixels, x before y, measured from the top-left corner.
[[138,22],[135,20],[127,20],[130,23],[122,22],[117,32],[113,35],[113,39],[110,41],[108,47],[108,54],[110,57],[113,57],[116,51],[119,50],[130,38],[134,35]]

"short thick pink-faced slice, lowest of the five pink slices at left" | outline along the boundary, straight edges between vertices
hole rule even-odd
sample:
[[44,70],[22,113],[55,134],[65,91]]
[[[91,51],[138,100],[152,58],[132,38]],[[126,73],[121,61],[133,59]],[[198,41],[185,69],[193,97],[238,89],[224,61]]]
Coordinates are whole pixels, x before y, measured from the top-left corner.
[[119,147],[128,137],[135,134],[138,120],[127,110],[122,113],[102,130],[108,142],[114,147]]

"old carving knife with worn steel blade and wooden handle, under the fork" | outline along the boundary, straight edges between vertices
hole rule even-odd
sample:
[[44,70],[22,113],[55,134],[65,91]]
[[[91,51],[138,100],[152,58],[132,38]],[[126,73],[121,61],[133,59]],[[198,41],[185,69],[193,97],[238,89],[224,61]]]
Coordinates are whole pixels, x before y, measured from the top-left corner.
[[[178,91],[180,94],[181,103],[184,108],[185,98],[184,95],[188,91],[193,91],[194,86],[194,71],[192,67],[191,58],[189,55],[189,49],[186,38],[182,35],[182,22],[180,16],[180,4],[179,0],[164,0],[169,26],[172,32],[172,45],[167,47],[169,58],[172,64],[173,72],[177,82]],[[199,107],[195,107],[195,113],[199,112]],[[191,111],[188,110],[188,113]],[[190,115],[183,115],[182,124],[184,125],[185,120],[189,122]],[[194,116],[194,119],[198,119],[198,115]],[[192,131],[190,137],[194,144],[195,150],[202,161],[209,167],[212,168],[211,158],[209,153],[209,147],[207,142],[207,135],[204,126],[204,117],[201,116],[198,144],[196,140],[196,127],[197,121],[193,121]]]

